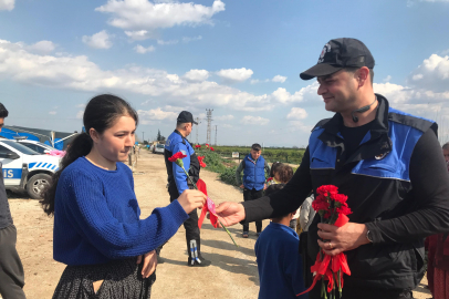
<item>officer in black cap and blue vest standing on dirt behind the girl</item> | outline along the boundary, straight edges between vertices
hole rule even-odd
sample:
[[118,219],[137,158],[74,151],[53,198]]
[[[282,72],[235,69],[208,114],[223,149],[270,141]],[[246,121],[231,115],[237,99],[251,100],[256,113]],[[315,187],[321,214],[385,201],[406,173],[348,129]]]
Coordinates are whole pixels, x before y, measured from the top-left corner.
[[[194,183],[197,183],[199,179],[199,161],[195,154],[194,147],[186,140],[191,133],[194,124],[197,123],[194,121],[194,116],[190,112],[182,111],[179,113],[176,130],[168,136],[165,144],[164,156],[165,165],[167,167],[168,194],[170,195],[170,202],[177,199],[185,189],[192,189],[194,185],[180,166],[168,161],[169,157],[178,152],[182,152],[182,154],[187,155],[187,157],[182,159],[184,168],[188,172],[189,177]],[[189,254],[188,266],[209,266],[210,261],[205,259],[200,251],[201,247],[197,210],[192,210],[189,216],[190,218],[184,223],[184,228],[186,229],[187,251]]]

